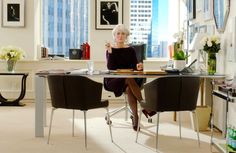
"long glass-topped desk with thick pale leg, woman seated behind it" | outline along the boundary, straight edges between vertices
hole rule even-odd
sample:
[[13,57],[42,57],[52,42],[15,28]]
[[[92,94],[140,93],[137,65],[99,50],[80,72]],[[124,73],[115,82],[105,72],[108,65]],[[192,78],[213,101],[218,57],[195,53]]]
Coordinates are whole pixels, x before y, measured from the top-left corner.
[[[167,74],[164,71],[155,72],[124,72],[124,71],[94,71],[92,75],[87,74],[86,70],[46,70],[40,71],[35,75],[35,137],[44,137],[44,127],[46,126],[46,81],[49,74],[73,74],[84,75],[89,78],[159,78],[163,76],[181,76],[179,74]],[[191,74],[186,76],[199,76],[201,78],[222,79],[224,75]],[[182,75],[183,76],[183,75]]]

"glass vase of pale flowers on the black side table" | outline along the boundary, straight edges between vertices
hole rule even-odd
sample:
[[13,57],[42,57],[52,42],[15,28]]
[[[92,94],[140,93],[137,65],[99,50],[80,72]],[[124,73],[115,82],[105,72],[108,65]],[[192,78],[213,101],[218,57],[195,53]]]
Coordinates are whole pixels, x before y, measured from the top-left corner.
[[23,59],[25,56],[24,51],[18,47],[2,47],[0,50],[0,59],[5,60],[6,63],[6,70],[8,72],[15,71],[15,65],[18,60]]

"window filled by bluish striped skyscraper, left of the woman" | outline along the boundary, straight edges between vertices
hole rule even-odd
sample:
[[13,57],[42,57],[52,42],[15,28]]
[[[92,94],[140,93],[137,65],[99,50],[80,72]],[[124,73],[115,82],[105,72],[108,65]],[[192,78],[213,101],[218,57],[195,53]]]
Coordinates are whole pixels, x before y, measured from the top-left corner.
[[42,0],[42,44],[49,54],[69,56],[88,41],[88,0]]

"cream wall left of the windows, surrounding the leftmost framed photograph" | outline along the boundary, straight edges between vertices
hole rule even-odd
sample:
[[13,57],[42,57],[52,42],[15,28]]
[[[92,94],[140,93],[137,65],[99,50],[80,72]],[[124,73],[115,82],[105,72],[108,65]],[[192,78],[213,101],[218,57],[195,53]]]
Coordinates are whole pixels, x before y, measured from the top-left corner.
[[[0,27],[0,47],[2,46],[18,46],[26,52],[26,59],[35,59],[35,39],[38,35],[35,35],[35,15],[37,14],[34,9],[34,4],[38,0],[25,0],[25,27],[13,28],[13,27]],[[2,1],[0,3],[2,5]],[[0,6],[2,9],[2,6]],[[0,11],[2,17],[2,10]],[[2,20],[0,20],[2,25]]]

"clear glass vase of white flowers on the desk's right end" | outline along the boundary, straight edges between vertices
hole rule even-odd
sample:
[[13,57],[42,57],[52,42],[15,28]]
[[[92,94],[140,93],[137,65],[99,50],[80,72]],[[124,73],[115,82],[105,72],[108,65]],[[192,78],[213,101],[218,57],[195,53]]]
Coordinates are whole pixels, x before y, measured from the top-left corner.
[[214,75],[216,73],[216,54],[220,51],[220,37],[210,36],[204,37],[201,40],[203,50],[208,54],[207,71],[208,74]]

